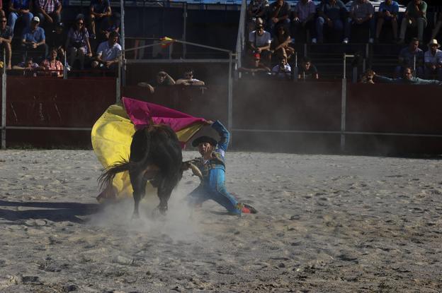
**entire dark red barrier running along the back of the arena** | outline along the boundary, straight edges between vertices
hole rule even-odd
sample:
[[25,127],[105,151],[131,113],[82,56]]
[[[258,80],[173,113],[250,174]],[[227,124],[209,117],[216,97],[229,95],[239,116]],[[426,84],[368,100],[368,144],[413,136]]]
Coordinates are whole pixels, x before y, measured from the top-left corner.
[[[227,125],[227,86],[128,86],[123,96],[162,104]],[[8,126],[91,127],[115,101],[115,80],[8,77]],[[442,87],[348,84],[346,150],[442,153]],[[339,153],[341,82],[239,80],[233,90],[232,146],[280,152]],[[414,133],[421,136],[382,135]],[[8,130],[7,142],[90,145],[89,131]]]

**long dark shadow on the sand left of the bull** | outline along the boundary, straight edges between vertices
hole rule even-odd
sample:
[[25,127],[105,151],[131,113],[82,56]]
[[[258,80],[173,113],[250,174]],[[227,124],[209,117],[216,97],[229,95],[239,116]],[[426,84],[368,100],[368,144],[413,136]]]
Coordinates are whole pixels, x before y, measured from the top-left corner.
[[37,208],[29,210],[6,210],[0,208],[0,219],[17,221],[43,219],[52,222],[83,223],[79,216],[91,215],[101,209],[96,203],[47,203],[0,201],[0,207]]

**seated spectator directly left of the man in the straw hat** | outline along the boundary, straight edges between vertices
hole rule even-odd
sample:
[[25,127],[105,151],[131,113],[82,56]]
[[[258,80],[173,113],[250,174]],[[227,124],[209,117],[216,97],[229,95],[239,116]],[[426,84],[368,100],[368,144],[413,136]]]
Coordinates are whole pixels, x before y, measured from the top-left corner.
[[418,77],[423,76],[422,65],[424,64],[424,51],[419,49],[419,40],[414,39],[409,43],[408,47],[400,50],[399,64],[395,69],[395,77],[400,76],[404,72],[404,68],[416,68]]

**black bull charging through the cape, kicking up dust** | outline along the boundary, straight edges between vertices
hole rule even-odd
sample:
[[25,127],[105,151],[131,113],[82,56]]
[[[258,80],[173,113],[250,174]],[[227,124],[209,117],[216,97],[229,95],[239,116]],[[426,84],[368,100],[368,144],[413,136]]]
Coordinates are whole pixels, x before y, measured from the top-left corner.
[[183,170],[190,165],[190,162],[183,162],[176,133],[169,126],[157,124],[137,130],[132,136],[129,162],[116,162],[98,180],[101,186],[108,186],[112,184],[115,174],[129,172],[135,201],[134,217],[139,217],[138,205],[145,196],[147,181],[150,181],[157,188],[157,208],[164,214],[172,190],[181,180]]

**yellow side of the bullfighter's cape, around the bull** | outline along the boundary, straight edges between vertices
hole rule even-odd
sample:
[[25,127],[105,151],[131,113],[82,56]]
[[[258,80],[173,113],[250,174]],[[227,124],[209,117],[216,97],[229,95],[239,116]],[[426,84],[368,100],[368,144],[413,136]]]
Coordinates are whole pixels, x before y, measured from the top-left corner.
[[[202,123],[192,124],[176,132],[179,141],[186,143],[200,128]],[[92,148],[103,167],[107,168],[115,162],[129,160],[130,143],[135,133],[135,126],[130,121],[122,104],[113,104],[96,121],[91,132]],[[120,200],[132,197],[132,186],[128,172],[117,174],[113,179],[111,190],[101,193],[97,200]],[[111,191],[111,192],[110,192]],[[146,194],[156,194],[151,184],[146,186]]]

